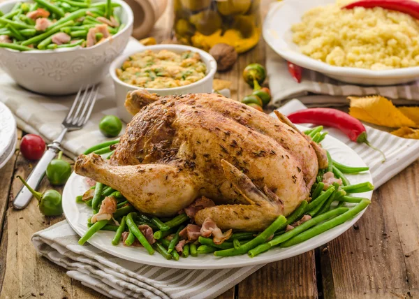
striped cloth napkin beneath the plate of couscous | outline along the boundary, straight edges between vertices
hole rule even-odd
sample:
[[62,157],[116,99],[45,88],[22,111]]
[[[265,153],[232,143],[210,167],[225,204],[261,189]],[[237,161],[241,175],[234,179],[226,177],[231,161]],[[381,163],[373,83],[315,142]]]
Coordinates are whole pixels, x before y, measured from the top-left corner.
[[[348,105],[346,96],[367,96],[379,94],[396,105],[419,104],[419,80],[406,85],[361,86],[339,82],[316,71],[304,68],[302,81],[295,82],[288,73],[286,61],[269,45],[266,47],[266,68],[272,101],[270,105],[279,107],[288,99],[298,98],[306,105]],[[310,95],[323,96],[310,96]]]

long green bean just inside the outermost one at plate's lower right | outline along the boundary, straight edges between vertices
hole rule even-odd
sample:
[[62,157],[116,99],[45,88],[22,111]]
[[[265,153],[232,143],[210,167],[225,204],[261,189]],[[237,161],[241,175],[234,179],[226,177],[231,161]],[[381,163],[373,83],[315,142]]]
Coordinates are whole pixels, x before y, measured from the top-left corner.
[[293,228],[291,231],[287,231],[286,233],[283,233],[282,235],[279,235],[273,238],[269,242],[263,243],[259,245],[258,247],[251,249],[248,252],[248,254],[251,258],[253,258],[257,256],[258,254],[261,254],[262,252],[265,252],[271,249],[272,247],[279,245],[282,242],[286,242],[286,240],[293,238],[295,235],[298,235],[300,233],[303,233],[304,231],[307,231],[307,229],[311,228],[312,226],[315,226],[316,224],[319,224],[332,217],[337,217],[337,215],[343,214],[344,212],[348,210],[349,209],[347,207],[339,207],[339,209],[331,210],[317,217],[311,218],[309,221],[305,221],[303,224]]

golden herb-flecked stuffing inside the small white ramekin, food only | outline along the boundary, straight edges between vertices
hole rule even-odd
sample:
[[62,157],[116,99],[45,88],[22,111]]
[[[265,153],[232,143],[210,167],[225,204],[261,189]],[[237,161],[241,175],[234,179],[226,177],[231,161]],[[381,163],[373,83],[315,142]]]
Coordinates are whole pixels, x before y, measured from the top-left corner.
[[162,89],[190,85],[204,78],[206,72],[207,66],[196,52],[145,50],[124,61],[117,69],[117,76],[131,85]]

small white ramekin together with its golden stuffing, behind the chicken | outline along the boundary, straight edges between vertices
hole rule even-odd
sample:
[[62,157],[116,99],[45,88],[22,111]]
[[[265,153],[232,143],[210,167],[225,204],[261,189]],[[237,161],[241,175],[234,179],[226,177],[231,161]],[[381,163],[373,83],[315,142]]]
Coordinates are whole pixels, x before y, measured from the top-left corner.
[[216,61],[207,52],[187,45],[151,45],[118,57],[109,71],[118,115],[130,122],[132,115],[124,106],[128,92],[146,89],[159,96],[212,92]]

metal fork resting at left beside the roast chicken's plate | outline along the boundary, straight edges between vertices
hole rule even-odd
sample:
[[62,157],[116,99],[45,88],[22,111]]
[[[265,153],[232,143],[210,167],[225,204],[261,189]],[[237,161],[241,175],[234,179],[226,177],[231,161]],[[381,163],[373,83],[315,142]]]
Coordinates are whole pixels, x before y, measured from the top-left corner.
[[[93,110],[94,103],[96,102],[96,96],[98,95],[98,86],[87,86],[84,90],[80,88],[77,96],[70,110],[68,111],[67,116],[64,118],[61,126],[63,131],[59,134],[57,139],[55,139],[51,144],[47,145],[47,151],[43,154],[41,160],[32,170],[29,177],[27,177],[27,183],[33,189],[38,188],[38,185],[41,183],[45,171],[47,170],[48,164],[54,159],[57,152],[60,150],[61,141],[66,135],[67,131],[80,130],[87,123]],[[19,193],[13,200],[13,207],[15,209],[21,210],[28,205],[31,201],[32,194],[27,189],[27,187],[22,187]]]

